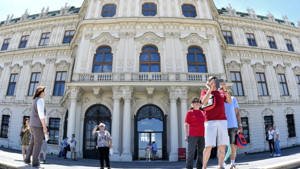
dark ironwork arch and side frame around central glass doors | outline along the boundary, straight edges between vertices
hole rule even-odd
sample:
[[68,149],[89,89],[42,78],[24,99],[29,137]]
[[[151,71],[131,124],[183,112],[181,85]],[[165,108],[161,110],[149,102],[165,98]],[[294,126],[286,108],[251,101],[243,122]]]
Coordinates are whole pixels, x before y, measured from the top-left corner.
[[[148,109],[147,111],[143,110],[145,107],[152,107],[152,111]],[[140,114],[141,111],[143,110],[143,114]],[[159,113],[159,112],[160,113]],[[154,116],[156,115],[156,116]],[[133,160],[138,160],[138,150],[139,150],[139,146],[138,146],[138,131],[137,131],[137,122],[140,121],[141,119],[145,119],[145,118],[155,118],[155,119],[159,119],[163,121],[163,132],[162,133],[162,159],[163,160],[168,160],[168,153],[167,153],[167,114],[164,115],[164,112],[162,111],[162,109],[154,104],[146,104],[144,106],[142,106],[137,113],[134,115],[134,153],[133,153]],[[142,131],[141,131],[142,132]],[[153,132],[155,133],[155,131],[147,131],[147,132]]]

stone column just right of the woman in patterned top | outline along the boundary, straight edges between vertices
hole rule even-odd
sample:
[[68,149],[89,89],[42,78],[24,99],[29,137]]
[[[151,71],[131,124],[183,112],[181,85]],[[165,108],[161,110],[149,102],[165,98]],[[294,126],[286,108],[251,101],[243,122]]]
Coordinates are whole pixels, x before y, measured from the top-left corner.
[[112,112],[112,143],[113,156],[112,161],[120,161],[119,141],[120,141],[120,100],[121,98],[112,98],[113,112]]

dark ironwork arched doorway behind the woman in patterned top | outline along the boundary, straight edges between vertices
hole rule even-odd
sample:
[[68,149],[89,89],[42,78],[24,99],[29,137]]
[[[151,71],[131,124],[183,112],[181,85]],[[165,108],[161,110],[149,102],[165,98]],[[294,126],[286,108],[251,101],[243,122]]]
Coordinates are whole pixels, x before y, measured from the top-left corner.
[[100,122],[105,124],[105,130],[111,133],[112,127],[111,111],[104,105],[95,104],[88,108],[84,115],[83,129],[83,158],[98,159],[97,155],[97,137],[93,135],[95,125]]

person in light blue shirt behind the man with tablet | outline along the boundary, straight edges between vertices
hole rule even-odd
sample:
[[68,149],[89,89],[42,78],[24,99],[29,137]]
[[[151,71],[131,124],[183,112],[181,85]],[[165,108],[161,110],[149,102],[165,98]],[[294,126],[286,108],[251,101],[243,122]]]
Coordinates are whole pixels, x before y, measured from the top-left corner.
[[[223,89],[222,89],[223,90]],[[235,167],[235,157],[237,152],[236,134],[243,132],[241,114],[239,112],[239,104],[234,96],[231,96],[231,103],[225,103],[225,115],[227,119],[227,131],[229,135],[230,149],[230,169],[237,169]],[[227,151],[228,152],[228,151]],[[225,160],[224,160],[225,161]],[[225,162],[224,162],[225,164]]]

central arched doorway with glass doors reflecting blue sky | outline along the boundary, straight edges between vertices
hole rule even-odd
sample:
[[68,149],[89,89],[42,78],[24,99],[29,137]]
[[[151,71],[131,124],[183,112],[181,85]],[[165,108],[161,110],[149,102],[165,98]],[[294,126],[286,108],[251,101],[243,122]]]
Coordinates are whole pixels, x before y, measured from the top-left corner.
[[141,107],[134,115],[135,160],[146,159],[145,148],[155,141],[158,159],[167,159],[167,115],[156,105]]

